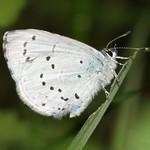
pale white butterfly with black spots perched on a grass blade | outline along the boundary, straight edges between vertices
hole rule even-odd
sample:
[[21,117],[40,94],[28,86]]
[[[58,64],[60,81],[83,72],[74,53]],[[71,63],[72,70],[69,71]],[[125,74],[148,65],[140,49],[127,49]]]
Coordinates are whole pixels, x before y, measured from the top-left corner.
[[[6,32],[4,55],[17,92],[34,111],[79,116],[93,96],[117,77],[115,48],[102,51],[42,30]],[[111,52],[111,55],[108,54]]]

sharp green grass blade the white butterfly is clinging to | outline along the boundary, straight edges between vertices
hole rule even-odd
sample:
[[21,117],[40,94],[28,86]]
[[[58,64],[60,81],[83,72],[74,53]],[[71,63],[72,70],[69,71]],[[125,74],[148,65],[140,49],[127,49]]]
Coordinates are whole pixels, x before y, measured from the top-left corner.
[[135,59],[137,51],[134,52],[132,59],[129,59],[124,67],[120,70],[118,74],[119,85],[116,80],[112,83],[110,88],[110,94],[106,101],[87,119],[79,133],[76,135],[68,150],[82,150],[88,139],[90,138],[91,134],[94,132],[95,128],[97,127],[98,123],[101,121],[104,113],[106,112],[107,108],[113,101],[114,96],[116,95],[119,86],[122,84],[125,76],[127,75],[133,60]]

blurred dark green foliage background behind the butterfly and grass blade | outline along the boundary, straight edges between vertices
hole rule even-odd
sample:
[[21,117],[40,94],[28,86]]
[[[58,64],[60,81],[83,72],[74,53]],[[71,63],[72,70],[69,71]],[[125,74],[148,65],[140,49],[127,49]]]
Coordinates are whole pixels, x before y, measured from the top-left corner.
[[[117,46],[150,46],[149,0],[0,0],[4,32],[36,28],[65,35],[100,50],[128,30]],[[114,46],[114,45],[112,45]],[[130,56],[133,51],[119,52]],[[85,150],[150,150],[150,53],[139,52],[116,99]],[[89,85],[90,86],[90,85]],[[88,88],[88,87],[87,87]],[[0,150],[66,150],[103,92],[81,116],[55,120],[36,114],[18,98],[3,50],[0,52]]]

